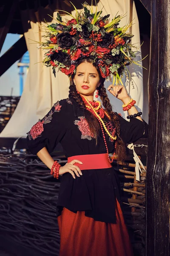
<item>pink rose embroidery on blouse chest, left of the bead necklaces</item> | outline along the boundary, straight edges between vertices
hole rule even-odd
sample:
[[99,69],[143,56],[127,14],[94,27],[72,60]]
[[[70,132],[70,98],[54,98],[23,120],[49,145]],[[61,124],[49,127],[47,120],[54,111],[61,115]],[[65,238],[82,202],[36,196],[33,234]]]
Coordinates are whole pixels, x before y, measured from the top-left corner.
[[78,125],[79,130],[82,132],[81,139],[91,140],[91,137],[93,137],[93,134],[91,134],[87,120],[85,119],[84,116],[80,116],[79,118],[80,120],[75,120],[74,124]]

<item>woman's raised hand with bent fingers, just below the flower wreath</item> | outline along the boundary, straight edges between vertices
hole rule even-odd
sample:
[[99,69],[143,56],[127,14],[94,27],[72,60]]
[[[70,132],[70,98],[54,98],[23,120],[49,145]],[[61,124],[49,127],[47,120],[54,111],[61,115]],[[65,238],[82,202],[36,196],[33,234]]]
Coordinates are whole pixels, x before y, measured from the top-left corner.
[[126,91],[125,87],[122,86],[122,85],[113,85],[113,84],[111,84],[111,85],[109,85],[108,90],[117,99],[124,100],[126,98],[129,98],[129,95],[127,94],[127,91]]

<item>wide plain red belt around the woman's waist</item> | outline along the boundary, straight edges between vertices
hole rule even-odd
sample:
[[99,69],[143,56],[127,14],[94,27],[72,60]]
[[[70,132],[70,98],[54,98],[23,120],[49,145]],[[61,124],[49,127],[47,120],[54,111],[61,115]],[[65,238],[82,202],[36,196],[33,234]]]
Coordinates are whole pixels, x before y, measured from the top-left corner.
[[74,163],[74,165],[79,166],[80,170],[105,169],[112,167],[107,154],[88,154],[68,157],[68,163],[72,160],[79,160],[83,163]]

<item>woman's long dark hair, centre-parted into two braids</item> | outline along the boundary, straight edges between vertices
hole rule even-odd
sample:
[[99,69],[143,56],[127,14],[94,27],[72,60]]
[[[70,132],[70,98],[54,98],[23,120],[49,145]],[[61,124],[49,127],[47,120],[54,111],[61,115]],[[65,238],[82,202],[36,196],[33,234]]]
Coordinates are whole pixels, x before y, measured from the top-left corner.
[[[117,135],[116,158],[118,161],[121,161],[125,158],[125,143],[123,142],[123,140],[120,137],[119,117],[112,111],[112,106],[111,106],[110,100],[108,99],[106,89],[104,87],[105,79],[103,79],[101,77],[99,68],[97,65],[94,64],[93,61],[94,60],[91,58],[82,58],[79,60],[77,66],[79,64],[81,64],[82,62],[89,62],[89,63],[92,63],[94,65],[94,67],[96,67],[96,69],[99,73],[99,76],[100,76],[100,85],[98,87],[99,96],[100,96],[100,99],[102,100],[102,105],[105,108],[105,111],[111,117],[111,121],[112,121],[114,127],[116,127],[116,135]],[[80,108],[82,108],[84,110],[85,119],[88,122],[91,134],[93,134],[93,137],[96,139],[96,144],[97,144],[97,138],[99,136],[99,131],[100,131],[99,122],[98,122],[97,118],[90,111],[88,111],[86,109],[85,104],[82,101],[82,97],[80,96],[80,94],[77,93],[73,78],[74,78],[74,76],[72,76],[71,85],[69,87],[69,97],[72,97],[79,104]]]

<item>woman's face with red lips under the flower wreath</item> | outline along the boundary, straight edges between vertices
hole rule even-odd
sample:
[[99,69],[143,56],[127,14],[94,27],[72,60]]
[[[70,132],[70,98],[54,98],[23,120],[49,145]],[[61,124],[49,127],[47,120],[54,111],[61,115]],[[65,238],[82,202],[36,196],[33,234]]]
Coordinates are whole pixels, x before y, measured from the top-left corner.
[[77,67],[73,81],[82,96],[93,96],[100,84],[99,73],[91,63],[82,62]]

